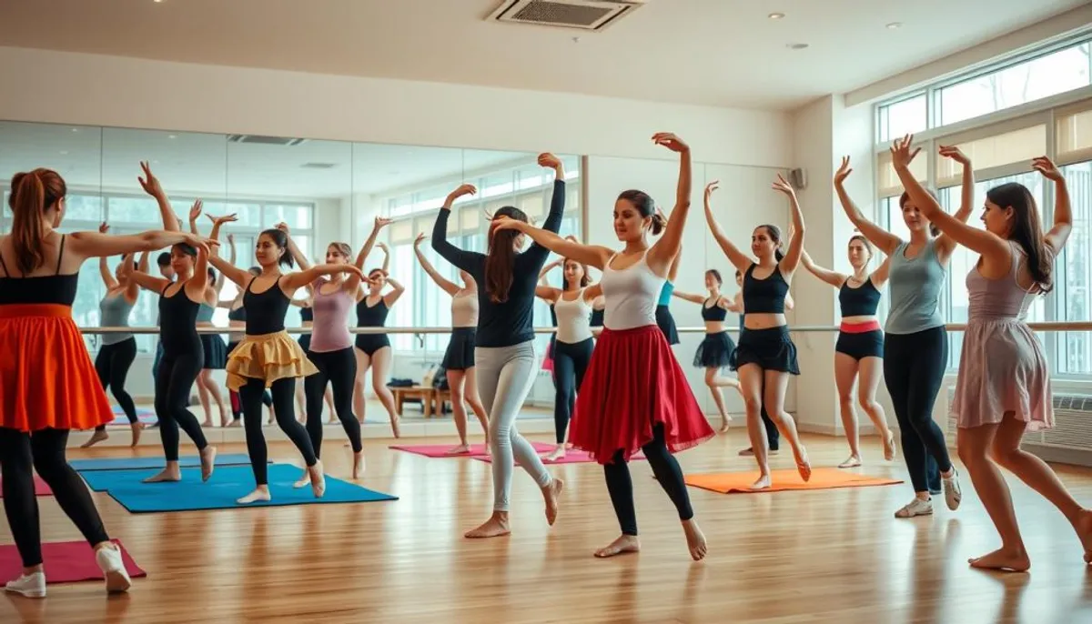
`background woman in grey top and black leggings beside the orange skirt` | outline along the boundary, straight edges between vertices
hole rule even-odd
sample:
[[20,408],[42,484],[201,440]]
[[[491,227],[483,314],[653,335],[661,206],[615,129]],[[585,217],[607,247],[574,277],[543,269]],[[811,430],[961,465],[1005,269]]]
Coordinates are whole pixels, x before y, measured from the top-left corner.
[[[107,233],[109,229],[108,225],[103,224],[98,231]],[[122,256],[112,275],[106,264],[106,257],[98,259],[98,273],[106,286],[106,296],[98,302],[99,324],[103,327],[129,326],[129,313],[136,304],[139,293],[139,286],[130,279],[132,271],[132,255]],[[129,428],[132,431],[132,442],[129,445],[131,447],[136,446],[140,442],[140,435],[144,431],[144,423],[136,418],[136,406],[133,404],[133,398],[126,392],[126,377],[129,375],[129,369],[135,359],[135,336],[132,334],[103,334],[98,355],[95,356],[95,372],[98,373],[98,381],[103,384],[103,389],[110,389],[118,406],[129,419]],[[106,432],[106,425],[99,424],[95,428],[91,440],[84,442],[80,447],[88,448],[109,440],[109,437],[110,434]]]

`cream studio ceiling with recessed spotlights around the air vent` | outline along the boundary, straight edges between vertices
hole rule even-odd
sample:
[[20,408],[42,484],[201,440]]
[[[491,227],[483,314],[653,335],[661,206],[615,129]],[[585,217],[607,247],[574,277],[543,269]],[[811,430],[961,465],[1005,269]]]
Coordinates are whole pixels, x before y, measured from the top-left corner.
[[648,0],[601,33],[486,22],[500,2],[3,0],[0,45],[791,109],[1088,0]]

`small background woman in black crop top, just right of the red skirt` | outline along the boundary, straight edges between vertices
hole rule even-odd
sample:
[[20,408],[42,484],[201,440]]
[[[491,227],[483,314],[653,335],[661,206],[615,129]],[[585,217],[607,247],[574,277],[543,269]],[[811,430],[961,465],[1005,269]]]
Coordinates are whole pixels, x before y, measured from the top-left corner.
[[734,301],[729,301],[727,297],[721,295],[721,286],[723,285],[724,279],[721,278],[721,272],[711,268],[705,272],[705,289],[709,290],[709,297],[679,292],[678,290],[673,292],[679,299],[701,304],[701,319],[705,322],[705,337],[698,345],[698,350],[693,355],[693,365],[705,369],[705,386],[713,395],[713,403],[716,404],[716,410],[721,413],[722,433],[728,430],[732,417],[728,416],[728,409],[724,406],[724,395],[721,394],[721,388],[732,387],[739,391],[739,382],[721,375],[721,369],[728,368],[732,363],[732,355],[736,350],[736,344],[724,327],[724,320],[728,316],[729,311],[743,312],[741,309],[736,308]]

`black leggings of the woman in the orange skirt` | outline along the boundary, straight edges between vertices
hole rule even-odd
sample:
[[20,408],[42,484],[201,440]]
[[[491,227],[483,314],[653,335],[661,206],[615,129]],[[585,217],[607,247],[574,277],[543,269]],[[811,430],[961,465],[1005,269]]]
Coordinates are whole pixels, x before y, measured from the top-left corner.
[[[0,428],[0,469],[3,470],[3,509],[24,567],[41,563],[41,532],[34,471],[49,484],[64,515],[91,545],[109,541],[103,519],[83,479],[68,465],[67,429],[24,433]],[[33,466],[33,469],[32,469]]]

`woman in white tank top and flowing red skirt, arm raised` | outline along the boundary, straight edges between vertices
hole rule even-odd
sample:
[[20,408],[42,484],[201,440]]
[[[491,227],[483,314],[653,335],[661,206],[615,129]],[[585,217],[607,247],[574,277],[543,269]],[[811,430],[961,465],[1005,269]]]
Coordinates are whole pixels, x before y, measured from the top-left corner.
[[[584,392],[577,396],[569,435],[574,448],[586,451],[603,465],[621,526],[621,536],[597,550],[595,556],[641,549],[628,467],[630,457],[640,449],[675,503],[690,556],[697,561],[705,556],[705,537],[693,519],[682,470],[672,453],[697,446],[714,433],[656,325],[655,313],[690,208],[690,148],[669,133],[655,134],[652,140],[679,154],[676,204],[666,229],[652,197],[642,191],[625,191],[615,202],[614,229],[626,243],[618,253],[567,241],[512,218],[502,219],[497,229],[526,233],[536,244],[603,271],[600,285],[606,298],[606,326],[592,353]],[[650,231],[657,235],[661,230],[664,236],[650,247]]]

